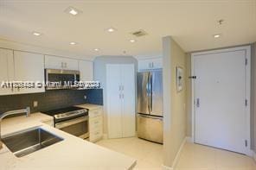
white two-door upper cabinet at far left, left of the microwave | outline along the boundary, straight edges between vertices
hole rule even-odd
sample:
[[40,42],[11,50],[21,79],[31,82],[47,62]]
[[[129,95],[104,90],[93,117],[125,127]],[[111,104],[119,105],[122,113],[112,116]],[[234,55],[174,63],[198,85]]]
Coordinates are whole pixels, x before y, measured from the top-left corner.
[[[0,80],[2,81],[44,81],[42,54],[13,51],[0,48]],[[0,95],[43,92],[42,88],[0,88]]]

